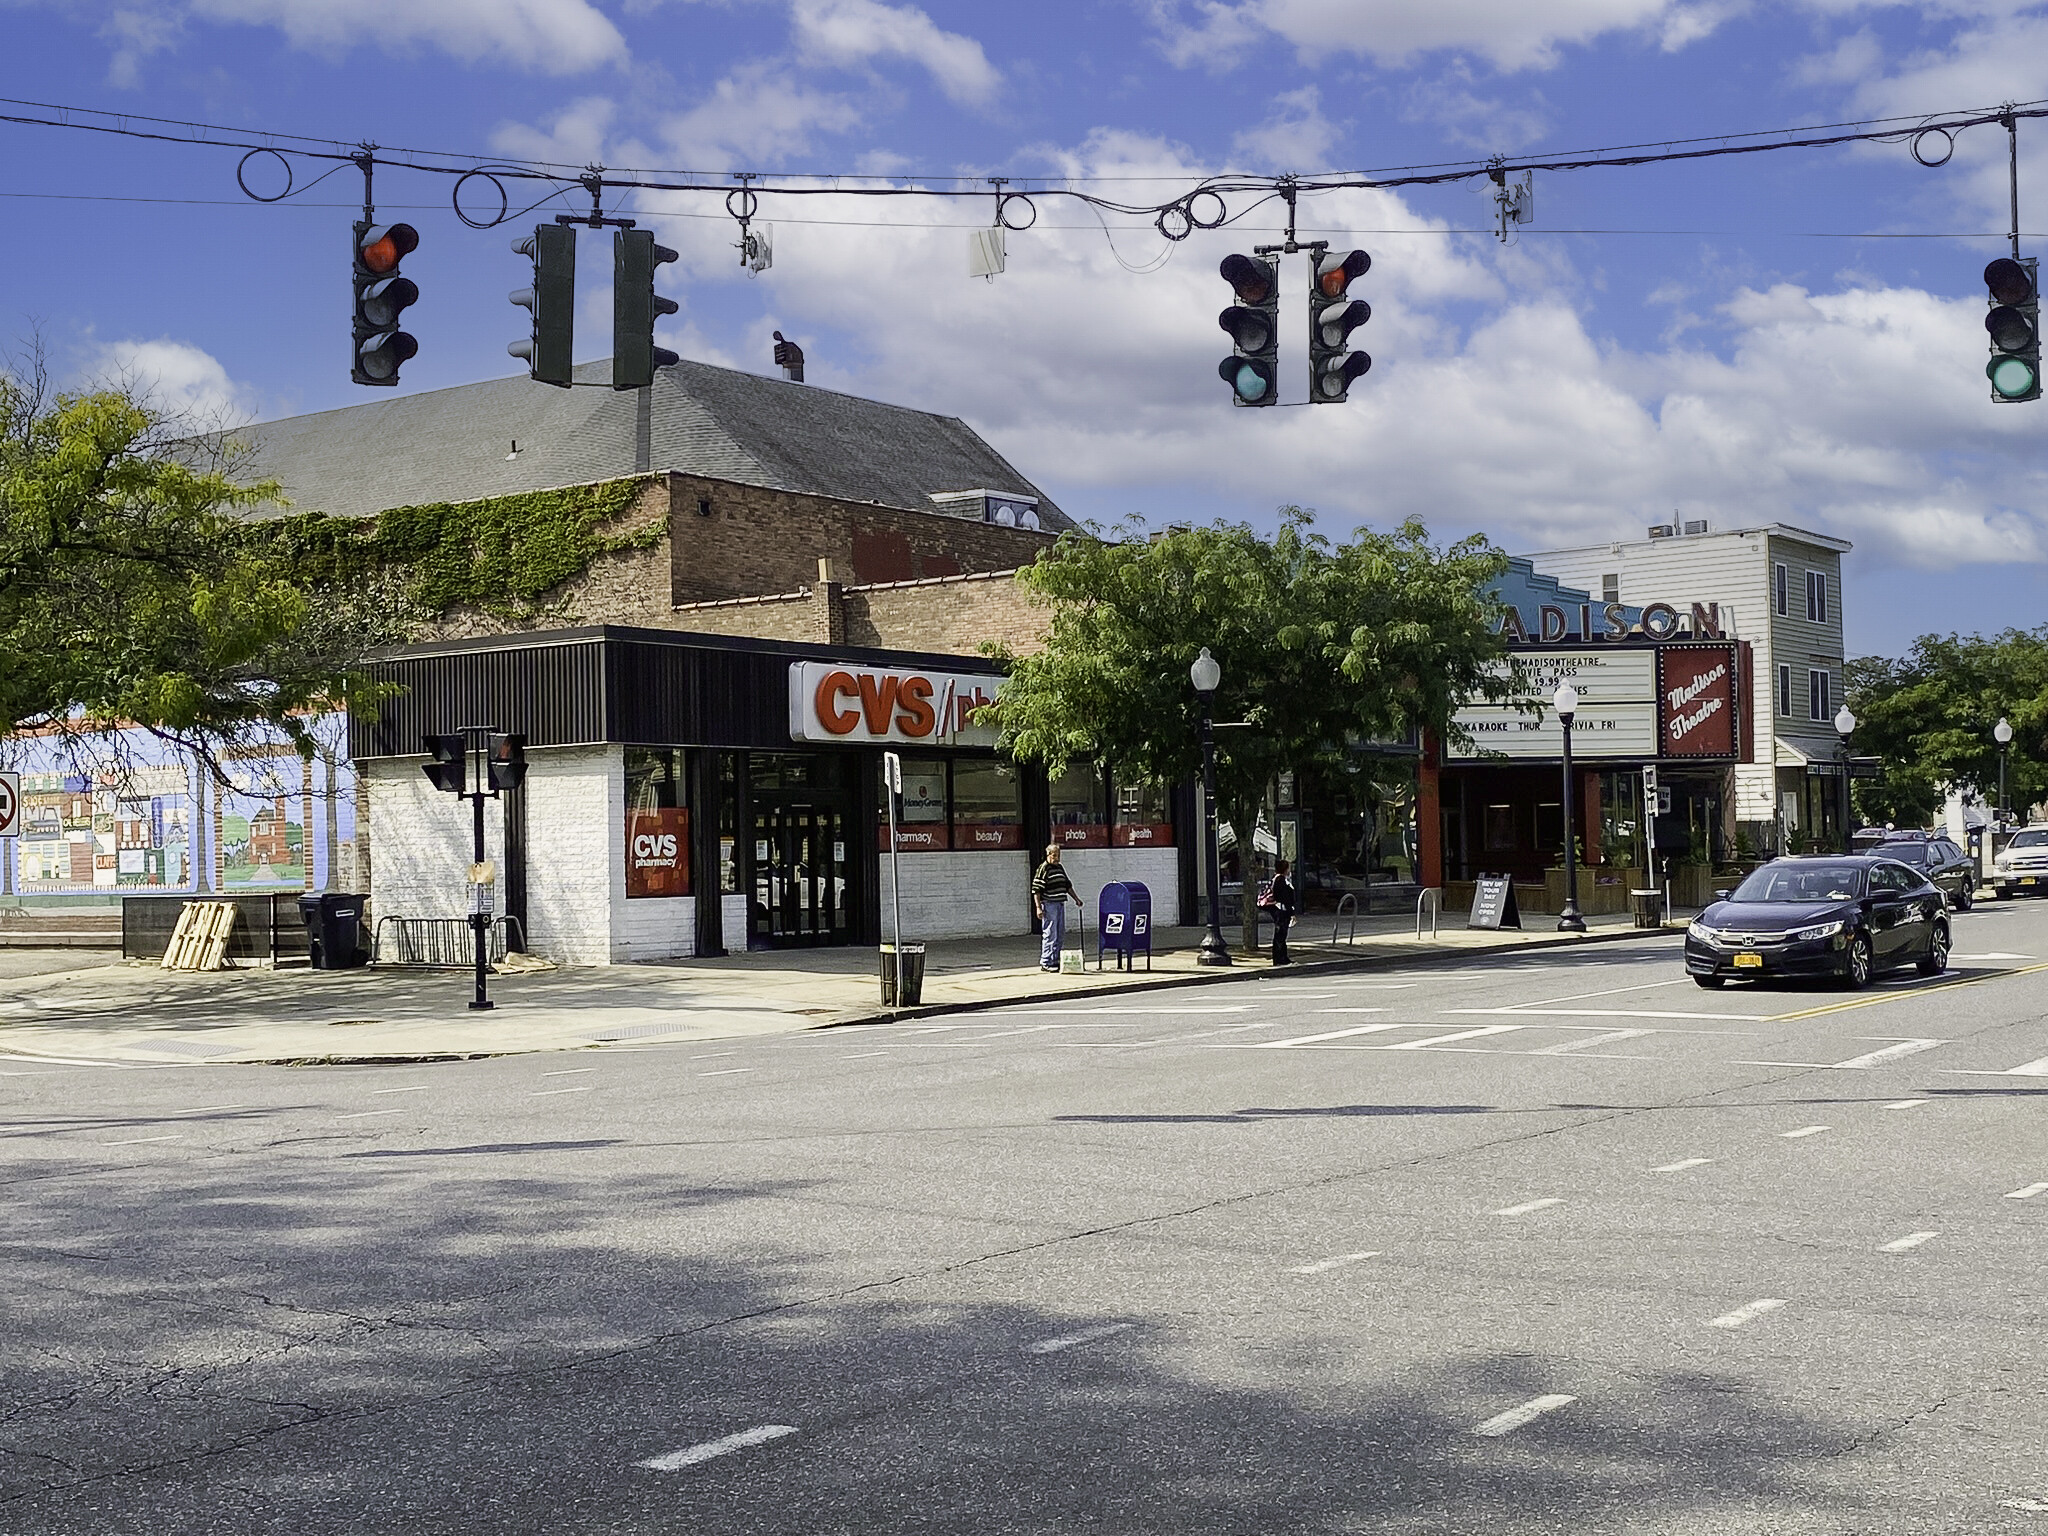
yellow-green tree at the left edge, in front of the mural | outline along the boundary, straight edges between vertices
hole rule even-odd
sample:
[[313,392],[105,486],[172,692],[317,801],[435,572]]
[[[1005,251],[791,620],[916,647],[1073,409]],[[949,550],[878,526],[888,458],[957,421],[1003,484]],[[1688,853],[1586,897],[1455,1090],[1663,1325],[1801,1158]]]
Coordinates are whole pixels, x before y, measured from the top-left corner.
[[141,725],[211,760],[252,733],[311,750],[307,713],[375,696],[375,606],[299,580],[244,516],[279,487],[229,469],[135,391],[51,393],[39,356],[0,375],[8,725]]

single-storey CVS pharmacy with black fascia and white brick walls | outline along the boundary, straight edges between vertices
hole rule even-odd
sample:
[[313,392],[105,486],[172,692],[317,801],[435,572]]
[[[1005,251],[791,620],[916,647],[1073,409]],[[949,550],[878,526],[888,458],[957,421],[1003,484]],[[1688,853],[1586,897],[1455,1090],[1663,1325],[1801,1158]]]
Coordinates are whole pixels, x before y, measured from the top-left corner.
[[1186,791],[1008,762],[971,719],[1001,682],[981,657],[592,627],[410,647],[377,672],[399,692],[352,729],[377,918],[465,909],[469,817],[420,772],[420,737],[469,725],[526,737],[526,782],[487,817],[498,905],[569,965],[879,942],[885,750],[903,758],[905,936],[1028,932],[1055,827],[1083,897],[1137,879],[1176,913],[1192,893]]

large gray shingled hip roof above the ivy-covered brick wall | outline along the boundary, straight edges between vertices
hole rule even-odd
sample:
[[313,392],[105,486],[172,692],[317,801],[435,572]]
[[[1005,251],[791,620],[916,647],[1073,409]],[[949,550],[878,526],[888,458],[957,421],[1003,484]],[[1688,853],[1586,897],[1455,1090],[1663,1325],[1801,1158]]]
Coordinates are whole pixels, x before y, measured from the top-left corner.
[[[584,362],[575,375],[608,381],[610,362]],[[1047,528],[1075,526],[956,416],[678,362],[655,373],[641,457],[637,406],[633,391],[516,377],[260,422],[233,436],[252,446],[242,475],[276,479],[299,512],[367,516],[674,469],[920,512],[938,510],[934,492],[1012,492],[1038,498]],[[508,457],[514,442],[518,457]]]

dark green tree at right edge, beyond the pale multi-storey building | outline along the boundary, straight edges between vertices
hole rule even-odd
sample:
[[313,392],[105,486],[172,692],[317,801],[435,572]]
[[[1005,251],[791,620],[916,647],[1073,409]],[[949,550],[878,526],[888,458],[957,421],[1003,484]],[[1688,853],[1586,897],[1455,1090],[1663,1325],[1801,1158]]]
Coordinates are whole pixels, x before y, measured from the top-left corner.
[[1882,758],[1880,776],[1855,786],[1868,819],[1923,825],[1952,784],[1995,799],[1999,719],[2013,727],[2007,801],[2048,795],[2048,625],[1921,635],[1903,657],[1858,657],[1843,672],[1855,750]]

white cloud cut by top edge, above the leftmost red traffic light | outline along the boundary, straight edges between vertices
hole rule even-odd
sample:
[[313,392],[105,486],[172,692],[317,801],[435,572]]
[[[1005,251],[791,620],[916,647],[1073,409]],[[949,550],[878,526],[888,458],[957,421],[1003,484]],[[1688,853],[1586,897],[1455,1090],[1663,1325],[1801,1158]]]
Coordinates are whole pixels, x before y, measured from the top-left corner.
[[627,57],[625,37],[590,0],[190,0],[188,12],[276,27],[295,47],[319,53],[375,39],[541,74],[582,74]]

